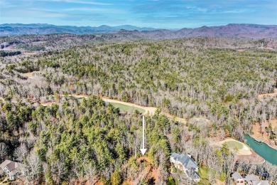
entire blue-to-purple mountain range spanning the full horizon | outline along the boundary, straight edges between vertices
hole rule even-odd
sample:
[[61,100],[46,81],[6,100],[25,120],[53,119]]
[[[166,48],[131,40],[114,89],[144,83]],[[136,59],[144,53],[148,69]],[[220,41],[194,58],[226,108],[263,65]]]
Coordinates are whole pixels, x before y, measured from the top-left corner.
[[251,23],[229,23],[226,26],[202,26],[200,28],[182,28],[167,30],[157,28],[137,27],[131,25],[98,27],[91,26],[55,26],[45,23],[32,24],[0,24],[0,36],[23,34],[97,34],[114,33],[139,38],[167,39],[186,37],[223,37],[223,38],[277,38],[277,25],[259,25]]

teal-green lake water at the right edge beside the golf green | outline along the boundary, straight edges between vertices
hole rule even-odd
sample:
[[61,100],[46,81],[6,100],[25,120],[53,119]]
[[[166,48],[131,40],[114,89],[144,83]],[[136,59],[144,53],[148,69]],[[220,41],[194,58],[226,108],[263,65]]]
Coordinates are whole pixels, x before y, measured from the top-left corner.
[[258,144],[254,141],[253,137],[250,137],[249,135],[244,135],[244,138],[247,141],[247,144],[249,144],[249,147],[253,149],[257,154],[259,154],[261,157],[266,159],[266,161],[270,162],[271,164],[277,165],[277,150],[273,149],[271,147],[268,147],[267,144]]

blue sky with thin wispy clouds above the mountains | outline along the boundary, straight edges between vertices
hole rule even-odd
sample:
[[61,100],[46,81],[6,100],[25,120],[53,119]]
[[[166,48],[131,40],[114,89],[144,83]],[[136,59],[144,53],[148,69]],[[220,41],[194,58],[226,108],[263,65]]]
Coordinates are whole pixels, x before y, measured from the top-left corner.
[[196,28],[277,25],[277,0],[0,0],[0,23]]

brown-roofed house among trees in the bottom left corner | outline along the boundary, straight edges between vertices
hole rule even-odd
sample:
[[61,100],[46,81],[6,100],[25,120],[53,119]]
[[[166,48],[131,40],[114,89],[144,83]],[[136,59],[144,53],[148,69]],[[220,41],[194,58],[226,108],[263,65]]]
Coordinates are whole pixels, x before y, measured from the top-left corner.
[[0,164],[0,176],[6,174],[10,180],[16,179],[21,173],[20,165],[21,164],[18,162],[5,160],[2,164]]

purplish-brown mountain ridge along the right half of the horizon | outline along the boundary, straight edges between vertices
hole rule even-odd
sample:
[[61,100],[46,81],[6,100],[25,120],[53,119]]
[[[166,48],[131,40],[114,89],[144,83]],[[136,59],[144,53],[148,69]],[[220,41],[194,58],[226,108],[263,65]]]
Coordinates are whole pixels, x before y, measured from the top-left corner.
[[277,39],[277,25],[259,25],[249,23],[229,23],[226,26],[202,26],[200,28],[182,28],[176,31],[119,31],[141,38],[168,39],[192,37],[220,38],[274,38]]

